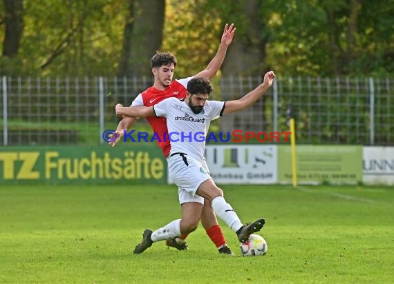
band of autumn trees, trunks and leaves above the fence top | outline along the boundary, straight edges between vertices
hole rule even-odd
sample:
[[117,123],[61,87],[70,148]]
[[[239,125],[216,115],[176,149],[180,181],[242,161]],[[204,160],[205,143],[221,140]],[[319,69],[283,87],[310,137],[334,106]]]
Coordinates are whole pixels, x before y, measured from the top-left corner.
[[0,72],[150,77],[149,59],[161,49],[176,54],[176,77],[190,76],[234,22],[225,77],[270,68],[281,76],[387,76],[392,14],[394,0],[2,0]]

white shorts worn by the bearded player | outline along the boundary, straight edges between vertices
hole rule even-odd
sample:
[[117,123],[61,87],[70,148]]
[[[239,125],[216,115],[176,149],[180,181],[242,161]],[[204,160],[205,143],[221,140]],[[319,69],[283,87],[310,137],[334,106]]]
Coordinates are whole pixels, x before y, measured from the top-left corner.
[[[185,154],[175,154],[168,159],[170,179],[178,186],[179,203],[198,202],[204,204],[204,198],[196,194],[201,183],[211,179],[205,159],[198,163]],[[187,165],[186,165],[187,163]]]

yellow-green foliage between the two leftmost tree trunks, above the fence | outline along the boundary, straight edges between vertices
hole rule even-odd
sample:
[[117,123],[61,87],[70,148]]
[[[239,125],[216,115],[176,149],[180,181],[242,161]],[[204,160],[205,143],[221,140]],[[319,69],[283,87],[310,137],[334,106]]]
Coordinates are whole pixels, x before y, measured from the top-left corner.
[[25,3],[20,74],[114,74],[122,46],[124,1]]

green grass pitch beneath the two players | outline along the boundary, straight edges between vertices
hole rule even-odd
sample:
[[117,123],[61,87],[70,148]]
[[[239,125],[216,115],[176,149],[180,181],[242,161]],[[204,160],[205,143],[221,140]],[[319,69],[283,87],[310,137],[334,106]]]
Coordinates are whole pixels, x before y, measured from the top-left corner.
[[394,189],[223,186],[244,222],[264,217],[265,256],[218,254],[203,227],[189,250],[144,228],[180,216],[174,186],[0,187],[0,283],[394,283]]

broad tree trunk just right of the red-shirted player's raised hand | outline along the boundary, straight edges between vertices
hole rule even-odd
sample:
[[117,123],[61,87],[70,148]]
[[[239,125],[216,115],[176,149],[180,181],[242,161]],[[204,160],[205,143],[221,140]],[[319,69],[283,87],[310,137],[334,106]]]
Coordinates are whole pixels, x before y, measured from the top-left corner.
[[[239,99],[244,94],[249,92],[247,88],[238,88],[239,84],[248,85],[250,88],[255,88],[258,84],[256,80],[252,83],[239,82],[237,77],[251,76],[253,78],[261,77],[262,74],[268,71],[265,64],[266,45],[268,43],[268,32],[265,28],[265,19],[261,17],[260,11],[264,2],[261,0],[243,0],[241,6],[243,7],[243,14],[245,14],[245,21],[243,27],[237,30],[233,43],[229,46],[226,59],[222,65],[223,78],[235,77],[230,79],[229,83],[223,83],[222,99],[224,101]],[[238,8],[241,8],[238,6]],[[237,10],[238,8],[235,8]],[[243,31],[243,33],[241,33]],[[259,81],[261,82],[261,81]],[[242,128],[243,131],[256,130],[256,122],[263,124],[266,128],[267,118],[265,116],[265,103],[263,99],[250,107],[250,112],[239,112],[232,114],[226,119],[221,120],[221,131],[232,131],[236,128]],[[239,124],[242,121],[242,125]]]

